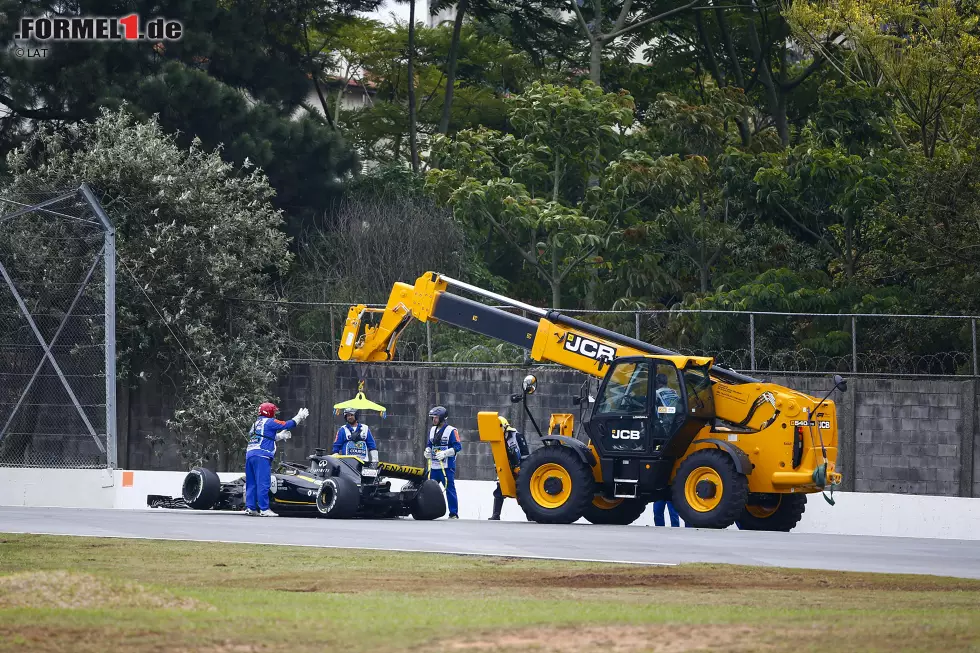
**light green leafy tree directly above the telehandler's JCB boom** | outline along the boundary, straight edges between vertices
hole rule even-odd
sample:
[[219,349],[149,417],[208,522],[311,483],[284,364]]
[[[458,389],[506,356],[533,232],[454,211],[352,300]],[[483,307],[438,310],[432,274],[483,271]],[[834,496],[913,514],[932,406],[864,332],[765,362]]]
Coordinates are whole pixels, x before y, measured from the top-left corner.
[[428,186],[478,232],[494,231],[551,289],[606,246],[621,221],[664,188],[694,183],[700,157],[627,149],[632,98],[534,83],[509,99],[513,133],[433,139]]

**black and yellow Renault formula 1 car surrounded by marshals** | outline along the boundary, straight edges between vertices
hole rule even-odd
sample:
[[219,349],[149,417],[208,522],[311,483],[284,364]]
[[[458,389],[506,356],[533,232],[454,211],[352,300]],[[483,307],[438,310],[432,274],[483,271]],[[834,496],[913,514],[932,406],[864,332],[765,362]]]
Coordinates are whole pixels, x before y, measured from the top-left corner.
[[[331,519],[406,517],[438,519],[446,514],[446,497],[439,483],[425,478],[421,467],[378,462],[357,456],[328,455],[316,449],[308,465],[282,462],[272,474],[269,507],[283,516]],[[386,477],[408,481],[391,491]],[[244,510],[245,477],[222,482],[210,469],[195,467],[184,477],[182,501],[149,495],[150,507],[188,507],[194,510]],[[181,505],[183,504],[183,505]]]

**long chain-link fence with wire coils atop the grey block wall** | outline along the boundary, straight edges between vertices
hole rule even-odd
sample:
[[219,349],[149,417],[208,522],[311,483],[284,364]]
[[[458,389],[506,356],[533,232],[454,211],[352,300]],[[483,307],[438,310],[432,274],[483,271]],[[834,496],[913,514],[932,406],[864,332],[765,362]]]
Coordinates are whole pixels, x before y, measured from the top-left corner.
[[[284,305],[287,355],[295,360],[337,360],[350,305]],[[720,365],[748,373],[978,375],[978,316],[699,310],[562,313],[682,354],[712,356]],[[452,325],[413,321],[398,340],[395,359],[513,364],[525,357],[519,347]]]

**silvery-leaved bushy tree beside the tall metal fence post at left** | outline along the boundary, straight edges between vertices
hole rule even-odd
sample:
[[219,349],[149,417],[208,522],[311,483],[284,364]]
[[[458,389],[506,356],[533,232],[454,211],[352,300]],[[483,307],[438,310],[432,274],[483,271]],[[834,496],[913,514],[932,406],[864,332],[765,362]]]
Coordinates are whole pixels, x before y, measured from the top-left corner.
[[227,464],[255,406],[286,369],[271,273],[291,262],[266,176],[180,148],[156,121],[125,108],[55,130],[12,151],[9,193],[89,183],[116,229],[117,354],[131,382],[170,383],[170,426],[188,464]]

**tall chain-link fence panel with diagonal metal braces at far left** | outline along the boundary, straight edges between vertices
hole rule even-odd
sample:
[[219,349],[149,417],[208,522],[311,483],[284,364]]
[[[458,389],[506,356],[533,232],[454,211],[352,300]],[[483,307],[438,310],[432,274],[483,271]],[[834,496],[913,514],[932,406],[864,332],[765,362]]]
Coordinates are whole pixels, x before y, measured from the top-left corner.
[[115,242],[85,185],[0,195],[0,466],[115,466]]

